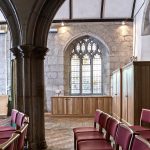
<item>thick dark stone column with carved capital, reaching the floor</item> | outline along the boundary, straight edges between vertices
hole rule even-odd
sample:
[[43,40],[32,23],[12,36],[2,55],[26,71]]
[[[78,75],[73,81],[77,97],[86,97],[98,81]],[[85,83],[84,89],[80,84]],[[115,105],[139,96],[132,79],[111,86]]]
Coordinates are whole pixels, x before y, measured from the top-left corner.
[[25,112],[30,117],[29,149],[45,149],[44,56],[47,48],[20,46],[24,57]]

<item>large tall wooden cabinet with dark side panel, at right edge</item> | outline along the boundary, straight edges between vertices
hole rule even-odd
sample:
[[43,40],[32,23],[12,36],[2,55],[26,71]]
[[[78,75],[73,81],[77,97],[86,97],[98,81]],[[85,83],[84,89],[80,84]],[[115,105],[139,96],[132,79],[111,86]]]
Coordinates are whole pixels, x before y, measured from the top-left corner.
[[139,124],[142,108],[150,109],[150,62],[136,61],[122,68],[122,121]]

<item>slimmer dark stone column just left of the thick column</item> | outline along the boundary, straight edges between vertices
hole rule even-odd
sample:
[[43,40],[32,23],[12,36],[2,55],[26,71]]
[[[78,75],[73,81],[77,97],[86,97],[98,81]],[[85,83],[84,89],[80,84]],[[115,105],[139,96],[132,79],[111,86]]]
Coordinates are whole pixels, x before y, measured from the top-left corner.
[[17,47],[10,49],[14,56],[16,57],[16,86],[17,86],[17,93],[16,93],[16,100],[15,100],[15,108],[21,112],[24,112],[24,98],[23,98],[23,57],[20,49]]

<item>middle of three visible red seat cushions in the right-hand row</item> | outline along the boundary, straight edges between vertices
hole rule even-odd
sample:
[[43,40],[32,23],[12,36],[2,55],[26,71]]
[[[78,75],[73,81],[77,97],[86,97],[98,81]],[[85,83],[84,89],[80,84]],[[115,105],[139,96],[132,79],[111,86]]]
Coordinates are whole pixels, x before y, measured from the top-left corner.
[[97,132],[80,132],[76,133],[77,142],[83,140],[92,140],[92,139],[105,139],[103,133]]

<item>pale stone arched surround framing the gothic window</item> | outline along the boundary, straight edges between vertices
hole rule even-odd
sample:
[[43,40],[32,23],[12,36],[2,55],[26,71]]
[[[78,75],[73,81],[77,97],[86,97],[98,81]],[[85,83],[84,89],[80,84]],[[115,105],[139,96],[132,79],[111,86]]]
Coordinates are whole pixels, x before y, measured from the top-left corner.
[[72,46],[76,41],[83,39],[84,37],[90,37],[94,39],[100,49],[102,50],[102,94],[109,94],[109,76],[110,76],[110,60],[109,60],[109,48],[107,44],[100,38],[91,33],[81,33],[75,37],[73,37],[70,41],[68,41],[67,45],[64,48],[64,94],[70,94],[70,50],[72,50]]

